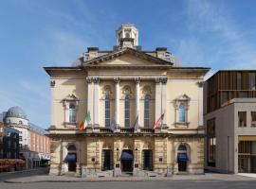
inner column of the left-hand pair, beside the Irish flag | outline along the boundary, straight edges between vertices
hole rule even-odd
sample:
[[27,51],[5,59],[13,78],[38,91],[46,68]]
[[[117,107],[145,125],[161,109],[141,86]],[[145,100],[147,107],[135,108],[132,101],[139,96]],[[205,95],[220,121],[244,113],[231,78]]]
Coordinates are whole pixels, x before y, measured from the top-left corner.
[[100,78],[94,77],[94,127],[100,127]]

